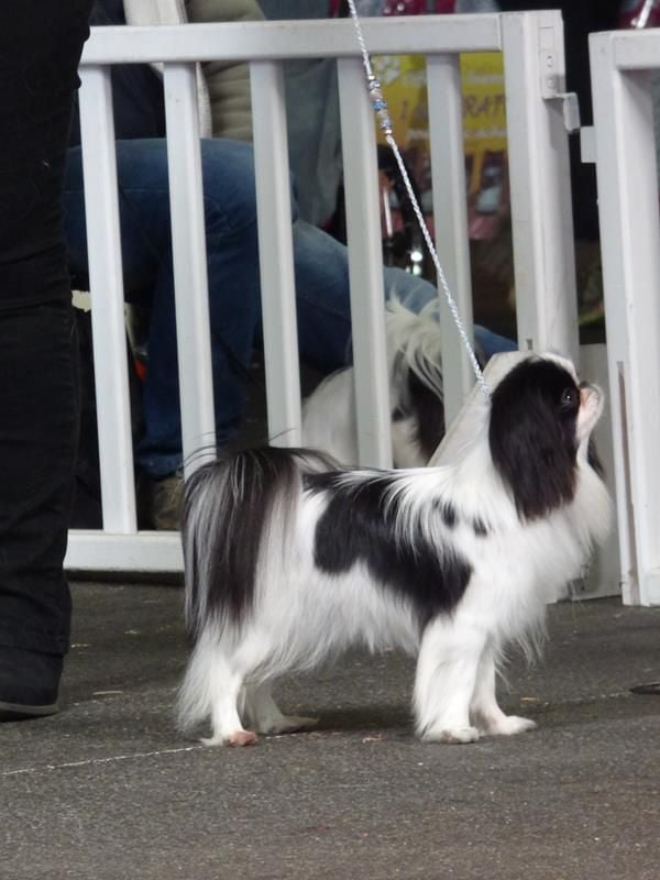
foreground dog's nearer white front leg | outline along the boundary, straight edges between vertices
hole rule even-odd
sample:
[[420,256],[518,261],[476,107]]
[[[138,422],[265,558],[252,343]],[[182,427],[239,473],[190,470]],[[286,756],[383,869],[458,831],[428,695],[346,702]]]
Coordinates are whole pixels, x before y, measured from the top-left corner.
[[417,733],[439,743],[474,743],[479,730],[470,722],[484,634],[443,616],[426,628],[415,679]]

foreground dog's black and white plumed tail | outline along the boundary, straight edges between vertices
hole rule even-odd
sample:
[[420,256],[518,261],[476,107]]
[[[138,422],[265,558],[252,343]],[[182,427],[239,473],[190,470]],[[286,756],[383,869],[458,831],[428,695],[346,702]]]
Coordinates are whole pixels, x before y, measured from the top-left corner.
[[205,464],[187,481],[182,539],[186,624],[194,639],[210,623],[242,626],[254,605],[266,543],[282,552],[290,544],[302,474],[336,466],[321,454],[268,447]]

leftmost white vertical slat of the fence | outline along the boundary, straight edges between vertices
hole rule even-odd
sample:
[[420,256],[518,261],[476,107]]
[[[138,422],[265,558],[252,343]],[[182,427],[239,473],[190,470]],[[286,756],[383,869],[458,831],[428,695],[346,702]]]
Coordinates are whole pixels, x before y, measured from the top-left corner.
[[130,534],[138,526],[109,67],[81,69],[79,105],[103,528]]

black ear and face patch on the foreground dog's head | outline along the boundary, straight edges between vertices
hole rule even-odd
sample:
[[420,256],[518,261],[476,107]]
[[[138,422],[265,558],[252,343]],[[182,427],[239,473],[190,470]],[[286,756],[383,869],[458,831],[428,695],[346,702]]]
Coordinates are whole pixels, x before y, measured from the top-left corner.
[[538,519],[572,501],[579,409],[575,381],[553,361],[524,361],[495,388],[491,454],[521,519]]

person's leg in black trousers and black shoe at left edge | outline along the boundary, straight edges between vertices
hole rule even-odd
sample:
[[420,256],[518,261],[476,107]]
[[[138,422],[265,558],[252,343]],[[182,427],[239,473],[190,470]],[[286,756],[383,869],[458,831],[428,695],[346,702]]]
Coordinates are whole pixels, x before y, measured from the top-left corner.
[[61,231],[91,0],[0,4],[0,721],[57,708],[78,426]]

